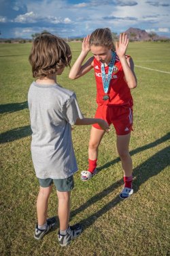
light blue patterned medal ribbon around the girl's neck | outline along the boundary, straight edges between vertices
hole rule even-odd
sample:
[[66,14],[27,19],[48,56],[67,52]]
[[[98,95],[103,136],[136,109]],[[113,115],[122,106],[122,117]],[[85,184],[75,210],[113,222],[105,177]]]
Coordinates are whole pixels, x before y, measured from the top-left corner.
[[109,71],[108,71],[107,77],[105,74],[105,64],[101,63],[101,77],[102,77],[102,81],[103,81],[103,89],[105,91],[105,94],[107,94],[107,91],[109,90],[109,83],[112,79],[112,72],[114,70],[115,59],[116,59],[116,53],[112,52],[112,59],[109,63]]

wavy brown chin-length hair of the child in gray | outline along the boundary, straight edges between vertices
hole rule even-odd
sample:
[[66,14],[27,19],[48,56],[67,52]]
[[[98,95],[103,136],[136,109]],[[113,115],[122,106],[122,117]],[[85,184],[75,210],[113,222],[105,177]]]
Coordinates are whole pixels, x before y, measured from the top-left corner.
[[62,38],[51,33],[41,33],[33,41],[29,62],[33,77],[56,74],[58,69],[70,67],[71,50]]

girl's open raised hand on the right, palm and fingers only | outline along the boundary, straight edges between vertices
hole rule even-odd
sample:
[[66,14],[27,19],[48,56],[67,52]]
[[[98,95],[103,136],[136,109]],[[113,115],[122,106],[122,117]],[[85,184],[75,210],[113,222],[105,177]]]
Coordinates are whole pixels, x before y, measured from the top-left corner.
[[120,33],[119,42],[116,42],[116,53],[118,57],[122,57],[126,53],[126,48],[129,44],[129,38],[126,33]]

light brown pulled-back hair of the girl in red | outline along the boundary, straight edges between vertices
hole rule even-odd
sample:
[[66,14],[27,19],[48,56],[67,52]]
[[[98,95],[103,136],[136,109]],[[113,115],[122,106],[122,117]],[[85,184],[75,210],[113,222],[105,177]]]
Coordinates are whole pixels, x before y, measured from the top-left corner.
[[111,30],[106,27],[105,29],[96,29],[93,31],[90,35],[91,45],[111,47],[112,51],[115,51]]

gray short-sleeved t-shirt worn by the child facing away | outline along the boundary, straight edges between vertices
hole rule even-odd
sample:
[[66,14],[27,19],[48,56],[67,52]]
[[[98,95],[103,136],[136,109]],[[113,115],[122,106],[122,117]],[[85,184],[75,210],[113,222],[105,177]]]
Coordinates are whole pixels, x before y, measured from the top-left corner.
[[83,118],[76,96],[60,85],[29,88],[31,155],[40,179],[64,179],[78,171],[71,138],[71,125]]

